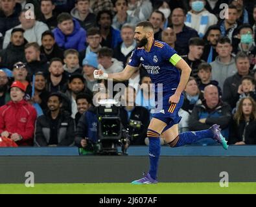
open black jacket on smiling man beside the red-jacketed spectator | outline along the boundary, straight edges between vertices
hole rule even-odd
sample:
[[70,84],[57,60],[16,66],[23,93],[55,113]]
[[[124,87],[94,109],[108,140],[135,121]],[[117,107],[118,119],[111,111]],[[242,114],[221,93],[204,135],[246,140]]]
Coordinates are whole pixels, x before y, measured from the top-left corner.
[[[35,144],[48,146],[51,136],[51,113],[39,116],[36,120]],[[71,146],[75,140],[75,120],[69,113],[60,111],[58,116],[58,146]]]

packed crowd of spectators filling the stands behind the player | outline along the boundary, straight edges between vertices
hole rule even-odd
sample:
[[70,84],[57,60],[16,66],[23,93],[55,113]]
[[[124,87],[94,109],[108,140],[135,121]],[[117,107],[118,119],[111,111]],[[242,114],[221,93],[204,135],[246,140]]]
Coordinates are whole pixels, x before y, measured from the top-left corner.
[[[146,20],[192,69],[179,131],[218,124],[229,144],[256,144],[256,0],[0,0],[1,136],[18,146],[97,142],[95,103],[118,93],[93,71],[121,72]],[[132,145],[145,144],[156,107],[150,83],[143,67],[122,82]]]

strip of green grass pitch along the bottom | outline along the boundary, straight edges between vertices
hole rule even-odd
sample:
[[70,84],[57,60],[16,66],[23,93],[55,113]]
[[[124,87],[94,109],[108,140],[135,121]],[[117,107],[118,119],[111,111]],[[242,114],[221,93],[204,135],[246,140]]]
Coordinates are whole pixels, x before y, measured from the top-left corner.
[[175,194],[175,193],[256,193],[256,182],[229,182],[221,188],[218,182],[159,183],[132,185],[128,183],[99,184],[0,184],[0,193],[88,193],[88,194]]

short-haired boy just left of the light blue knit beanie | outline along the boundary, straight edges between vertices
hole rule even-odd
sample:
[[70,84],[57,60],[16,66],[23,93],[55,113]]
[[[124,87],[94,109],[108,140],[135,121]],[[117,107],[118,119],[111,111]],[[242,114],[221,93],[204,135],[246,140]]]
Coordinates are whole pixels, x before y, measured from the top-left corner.
[[67,78],[73,73],[82,74],[82,69],[79,65],[79,53],[75,49],[67,49],[64,52],[64,74]]

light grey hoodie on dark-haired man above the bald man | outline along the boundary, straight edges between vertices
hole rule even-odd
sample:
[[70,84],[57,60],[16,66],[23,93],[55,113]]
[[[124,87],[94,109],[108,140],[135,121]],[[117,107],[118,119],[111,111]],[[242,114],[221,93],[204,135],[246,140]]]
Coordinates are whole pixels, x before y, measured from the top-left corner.
[[216,60],[210,63],[212,70],[212,80],[216,80],[223,91],[223,85],[226,78],[233,76],[237,72],[237,66],[235,65],[235,58],[231,57],[229,63],[220,62],[220,58],[217,56]]

